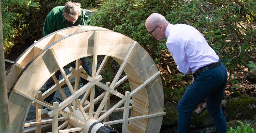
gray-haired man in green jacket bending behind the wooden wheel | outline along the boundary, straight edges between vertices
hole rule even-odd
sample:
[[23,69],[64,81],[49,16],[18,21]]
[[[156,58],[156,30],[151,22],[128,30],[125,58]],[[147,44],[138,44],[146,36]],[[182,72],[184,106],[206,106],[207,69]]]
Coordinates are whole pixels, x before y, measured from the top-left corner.
[[[45,24],[43,28],[43,36],[46,36],[50,33],[53,33],[57,30],[67,28],[70,26],[76,25],[89,25],[90,20],[87,16],[86,12],[81,9],[80,3],[75,3],[68,1],[65,6],[57,6],[48,13],[45,19]],[[88,70],[88,63],[86,58],[80,59],[82,62],[83,69],[90,75]],[[70,65],[75,68],[75,63],[71,62]],[[60,71],[55,72],[55,76],[59,79]],[[88,83],[85,79],[81,78],[83,85]],[[45,89],[48,90],[51,88],[55,82],[53,81],[52,77],[46,81]],[[51,103],[55,92],[52,93],[50,96],[45,98],[45,101]]]

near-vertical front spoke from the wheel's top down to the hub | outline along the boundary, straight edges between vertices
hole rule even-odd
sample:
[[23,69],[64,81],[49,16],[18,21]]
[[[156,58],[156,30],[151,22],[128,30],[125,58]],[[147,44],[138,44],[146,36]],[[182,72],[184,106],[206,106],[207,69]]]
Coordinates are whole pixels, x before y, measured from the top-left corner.
[[[97,69],[97,57],[98,57],[98,41],[99,41],[99,32],[94,32],[94,41],[93,41],[93,61],[92,61],[92,78],[96,77],[96,69]],[[90,108],[89,108],[89,117],[93,118],[93,110],[94,110],[94,97],[95,97],[95,86],[91,88],[90,93]]]

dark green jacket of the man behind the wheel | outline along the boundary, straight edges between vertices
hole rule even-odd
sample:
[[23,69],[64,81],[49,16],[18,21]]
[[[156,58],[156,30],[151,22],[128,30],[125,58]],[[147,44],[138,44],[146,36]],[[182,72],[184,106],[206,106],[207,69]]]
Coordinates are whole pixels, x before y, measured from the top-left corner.
[[65,23],[65,18],[63,16],[63,8],[64,6],[57,6],[48,13],[48,15],[45,18],[45,24],[43,28],[43,36],[46,36],[50,33],[53,33],[57,30],[67,28],[70,26],[75,25],[89,25],[90,20],[87,16],[86,12],[81,9],[82,14],[78,17],[77,21],[74,23],[74,25],[68,25]]

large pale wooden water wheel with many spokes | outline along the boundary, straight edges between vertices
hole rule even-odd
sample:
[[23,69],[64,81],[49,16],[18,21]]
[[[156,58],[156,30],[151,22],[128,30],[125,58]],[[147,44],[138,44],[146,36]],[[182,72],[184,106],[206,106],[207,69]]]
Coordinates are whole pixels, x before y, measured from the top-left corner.
[[[105,58],[97,69],[97,57]],[[81,73],[78,61],[82,57],[93,57],[92,76]],[[101,83],[101,71],[108,59],[113,58],[120,68],[111,83]],[[76,61],[76,68],[70,68],[66,75],[63,66]],[[54,75],[60,70],[63,79],[58,81]],[[120,77],[122,72],[126,74]],[[44,93],[38,93],[45,82],[53,77],[55,85]],[[88,80],[85,86],[78,89],[79,76]],[[75,77],[75,87],[70,79]],[[76,26],[58,30],[43,37],[29,47],[12,65],[7,72],[7,89],[9,90],[9,114],[14,132],[23,132],[24,127],[36,125],[36,132],[40,132],[40,125],[52,123],[52,132],[97,132],[102,126],[122,123],[122,132],[150,132],[160,131],[163,115],[163,86],[154,61],[150,55],[136,41],[120,33],[95,26]],[[125,95],[115,90],[128,80],[131,92]],[[71,96],[66,97],[61,86],[67,84]],[[95,97],[95,86],[105,90]],[[43,101],[53,91],[59,89],[63,102],[53,105]],[[85,93],[85,94],[84,94]],[[81,101],[78,97],[84,94]],[[82,107],[90,95],[90,103]],[[121,100],[111,108],[110,96],[117,96]],[[101,100],[103,98],[103,100]],[[36,122],[25,123],[30,103],[37,106]],[[71,106],[70,103],[75,104]],[[94,105],[101,102],[95,111]],[[124,107],[120,108],[121,105]],[[45,106],[51,111],[50,120],[41,121],[40,110]],[[130,110],[130,115],[129,115]],[[123,111],[123,119],[109,121],[111,113]],[[58,126],[58,122],[64,121]],[[66,129],[63,129],[66,127]],[[59,131],[58,131],[59,130]],[[120,132],[120,131],[119,131]]]

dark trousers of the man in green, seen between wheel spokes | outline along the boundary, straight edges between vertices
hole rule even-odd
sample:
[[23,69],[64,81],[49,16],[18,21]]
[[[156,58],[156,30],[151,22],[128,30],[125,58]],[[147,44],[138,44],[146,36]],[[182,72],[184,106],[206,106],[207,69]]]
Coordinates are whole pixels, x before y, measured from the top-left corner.
[[[82,66],[83,66],[83,69],[87,72],[87,74],[90,75],[90,72],[89,72],[89,67],[88,67],[88,63],[87,63],[87,59],[86,58],[82,58],[81,59],[82,61]],[[72,66],[73,68],[76,68],[76,61],[75,62],[71,62],[70,63],[70,66]],[[55,72],[55,76],[57,79],[59,79],[59,76],[60,76],[60,70],[59,71],[56,71]],[[81,81],[83,83],[83,85],[85,85],[86,83],[88,83],[87,80],[81,78]],[[52,79],[52,77],[50,77],[50,79],[48,79],[46,81],[46,85],[45,85],[45,90],[48,90],[49,88],[51,88],[53,85],[55,85],[55,82],[54,80]],[[44,99],[44,101],[46,101],[47,103],[50,103],[52,100],[53,100],[53,97],[55,95],[55,92],[54,91],[52,94],[50,94],[47,98]]]

